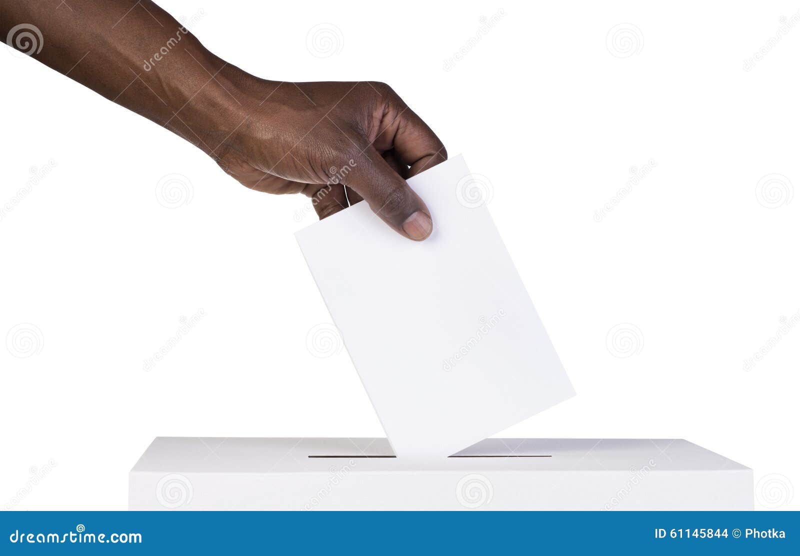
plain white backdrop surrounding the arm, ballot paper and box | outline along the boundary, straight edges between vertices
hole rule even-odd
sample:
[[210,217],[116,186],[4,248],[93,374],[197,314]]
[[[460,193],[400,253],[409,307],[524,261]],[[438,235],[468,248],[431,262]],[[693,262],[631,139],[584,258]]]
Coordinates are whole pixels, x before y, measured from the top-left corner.
[[[751,466],[758,508],[800,509],[800,326],[744,369],[800,310],[800,25],[779,21],[797,2],[161,4],[253,74],[389,82],[490,180],[578,390],[502,435],[686,438]],[[321,23],[328,57],[306,45]],[[633,50],[607,45],[618,24]],[[305,198],[239,186],[33,59],[0,52],[0,72],[0,206],[18,199],[0,220],[0,342],[35,326],[30,349],[0,345],[0,507],[125,509],[157,435],[382,435],[346,352],[306,348],[330,317],[293,236],[316,219],[294,218]],[[167,174],[190,202],[158,201]],[[785,178],[759,197],[767,174]],[[633,343],[609,349],[621,323]]]

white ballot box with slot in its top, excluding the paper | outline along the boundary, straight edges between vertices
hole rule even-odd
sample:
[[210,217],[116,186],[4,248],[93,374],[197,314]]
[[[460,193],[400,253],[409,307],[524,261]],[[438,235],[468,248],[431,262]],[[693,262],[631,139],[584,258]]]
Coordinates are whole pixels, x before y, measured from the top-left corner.
[[686,440],[490,438],[395,458],[385,438],[156,438],[131,510],[752,510],[752,470]]

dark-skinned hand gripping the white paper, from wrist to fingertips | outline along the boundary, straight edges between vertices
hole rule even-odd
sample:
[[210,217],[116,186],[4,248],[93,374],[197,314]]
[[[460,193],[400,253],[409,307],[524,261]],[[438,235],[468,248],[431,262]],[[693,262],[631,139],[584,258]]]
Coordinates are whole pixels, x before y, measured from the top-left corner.
[[446,150],[389,86],[254,80],[231,93],[244,115],[212,156],[242,185],[306,194],[320,218],[365,199],[407,238],[430,235],[430,213],[405,178],[446,160]]

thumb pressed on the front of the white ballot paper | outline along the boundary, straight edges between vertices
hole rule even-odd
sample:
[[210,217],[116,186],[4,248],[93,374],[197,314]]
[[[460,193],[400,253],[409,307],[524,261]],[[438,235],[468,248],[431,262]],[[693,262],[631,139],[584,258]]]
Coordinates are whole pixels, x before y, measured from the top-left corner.
[[347,175],[346,186],[361,195],[373,212],[399,234],[418,242],[427,238],[434,222],[419,195],[377,150],[369,148],[364,155],[357,171]]

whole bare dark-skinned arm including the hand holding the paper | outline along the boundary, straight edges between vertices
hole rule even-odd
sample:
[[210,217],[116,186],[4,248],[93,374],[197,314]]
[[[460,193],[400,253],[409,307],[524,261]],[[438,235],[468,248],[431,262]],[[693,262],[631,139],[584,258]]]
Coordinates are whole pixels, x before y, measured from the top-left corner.
[[198,146],[244,186],[306,194],[320,218],[363,198],[410,239],[433,229],[405,178],[446,160],[445,148],[384,83],[254,77],[149,0],[0,0],[0,33]]

